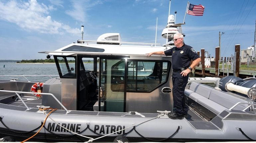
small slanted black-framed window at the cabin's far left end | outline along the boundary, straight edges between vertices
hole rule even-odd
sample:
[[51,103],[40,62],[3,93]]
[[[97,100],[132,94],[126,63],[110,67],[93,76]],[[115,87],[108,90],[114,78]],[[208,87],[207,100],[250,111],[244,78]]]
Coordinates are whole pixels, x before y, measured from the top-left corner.
[[[75,78],[76,77],[76,66],[75,57],[57,57],[59,64],[59,74],[61,78]],[[58,66],[57,66],[58,67]]]

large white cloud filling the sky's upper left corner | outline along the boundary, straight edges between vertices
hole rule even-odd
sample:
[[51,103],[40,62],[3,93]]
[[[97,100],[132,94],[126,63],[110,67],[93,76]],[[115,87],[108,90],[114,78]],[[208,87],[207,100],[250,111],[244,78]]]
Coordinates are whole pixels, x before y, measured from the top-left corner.
[[36,0],[25,3],[17,1],[0,2],[0,19],[15,23],[24,30],[38,31],[39,33],[62,34],[79,33],[78,28],[70,28],[68,25],[52,20],[50,11],[53,6],[39,4]]

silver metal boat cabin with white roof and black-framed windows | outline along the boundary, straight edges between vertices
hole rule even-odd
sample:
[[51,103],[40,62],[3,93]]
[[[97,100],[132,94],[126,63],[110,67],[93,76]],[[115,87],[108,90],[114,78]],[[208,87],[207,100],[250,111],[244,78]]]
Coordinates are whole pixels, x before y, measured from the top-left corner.
[[[104,39],[108,37],[109,34]],[[125,45],[127,42],[113,39],[81,40],[56,51],[40,52],[54,57],[60,75],[60,79],[44,84],[44,92],[53,93],[68,110],[172,111],[172,59],[146,55],[165,47],[155,43]],[[51,98],[43,96],[42,105],[61,109]]]

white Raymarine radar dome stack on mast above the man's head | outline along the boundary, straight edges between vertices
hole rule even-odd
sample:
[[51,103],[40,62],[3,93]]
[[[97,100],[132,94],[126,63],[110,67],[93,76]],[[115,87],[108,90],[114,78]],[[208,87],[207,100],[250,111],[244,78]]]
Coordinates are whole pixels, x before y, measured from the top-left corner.
[[166,28],[162,31],[162,37],[167,38],[167,35],[168,35],[168,39],[172,40],[173,35],[175,33],[182,33],[181,25],[183,25],[183,24],[175,24],[174,15],[169,15],[168,23],[165,26]]

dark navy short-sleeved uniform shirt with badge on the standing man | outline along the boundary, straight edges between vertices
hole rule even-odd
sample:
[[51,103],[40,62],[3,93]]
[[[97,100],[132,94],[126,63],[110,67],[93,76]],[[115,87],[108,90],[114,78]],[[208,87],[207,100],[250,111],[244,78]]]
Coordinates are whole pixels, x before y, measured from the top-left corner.
[[186,44],[183,44],[180,48],[173,47],[164,52],[166,56],[172,56],[173,70],[181,70],[183,67],[186,70],[189,67],[191,60],[200,58],[195,50]]

